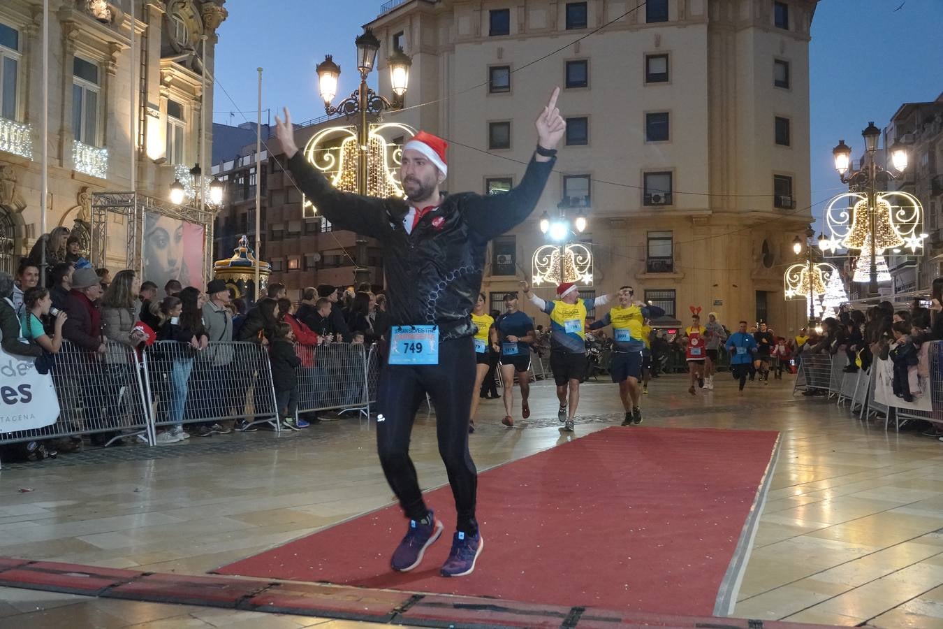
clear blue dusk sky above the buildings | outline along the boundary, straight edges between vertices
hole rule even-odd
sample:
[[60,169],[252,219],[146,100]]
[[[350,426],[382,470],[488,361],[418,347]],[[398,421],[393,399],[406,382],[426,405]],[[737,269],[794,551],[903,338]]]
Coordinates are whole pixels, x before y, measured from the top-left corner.
[[[338,98],[354,91],[354,39],[381,5],[378,0],[228,0],[229,18],[219,29],[216,52],[214,122],[255,121],[258,66],[263,123],[270,116],[266,108],[272,120],[285,106],[296,123],[323,116],[315,66],[325,54],[334,55],[341,68]],[[902,103],[932,101],[943,91],[940,25],[943,0],[819,2],[809,44],[816,216],[819,202],[841,185],[832,161],[838,140],[860,157],[861,130],[869,121],[884,127]]]

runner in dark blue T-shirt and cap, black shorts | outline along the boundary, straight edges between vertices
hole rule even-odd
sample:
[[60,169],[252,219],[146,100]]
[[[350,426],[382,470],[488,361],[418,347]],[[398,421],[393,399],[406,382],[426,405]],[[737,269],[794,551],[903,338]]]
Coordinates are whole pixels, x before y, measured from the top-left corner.
[[514,372],[521,385],[521,417],[530,417],[527,397],[530,395],[530,344],[534,342],[534,320],[518,309],[518,293],[505,294],[505,314],[498,317],[491,329],[501,346],[501,380],[505,388],[505,426],[513,426]]

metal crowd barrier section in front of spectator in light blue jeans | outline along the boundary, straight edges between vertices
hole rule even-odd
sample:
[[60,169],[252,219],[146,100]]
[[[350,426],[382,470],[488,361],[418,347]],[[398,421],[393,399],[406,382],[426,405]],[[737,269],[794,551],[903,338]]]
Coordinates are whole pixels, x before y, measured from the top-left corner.
[[269,353],[247,341],[194,350],[162,340],[144,350],[144,381],[156,428],[252,417],[279,431]]

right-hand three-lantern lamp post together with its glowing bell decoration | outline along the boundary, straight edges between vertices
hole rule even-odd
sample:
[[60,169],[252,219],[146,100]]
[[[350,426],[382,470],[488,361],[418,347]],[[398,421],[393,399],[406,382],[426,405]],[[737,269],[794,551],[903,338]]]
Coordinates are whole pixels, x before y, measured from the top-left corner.
[[[898,172],[898,174],[894,174],[874,159],[878,150],[878,138],[881,136],[881,130],[874,123],[869,123],[868,127],[861,132],[861,135],[865,140],[865,158],[858,170],[852,168],[852,149],[844,140],[838,141],[838,145],[832,151],[835,156],[835,170],[838,172],[838,177],[842,183],[851,184],[854,191],[835,197],[826,209],[825,218],[829,226],[833,226],[831,212],[833,204],[839,198],[851,196],[858,199],[852,211],[849,212],[847,209],[843,212],[839,211],[839,216],[843,216],[845,222],[850,223],[850,226],[841,238],[835,239],[835,232],[833,231],[833,238],[819,239],[819,245],[822,247],[822,251],[845,246],[858,249],[860,257],[868,256],[870,262],[868,296],[877,297],[879,295],[879,257],[881,257],[881,261],[884,259],[881,253],[888,247],[898,246],[904,242],[907,242],[908,246],[916,251],[918,247],[922,247],[922,240],[926,235],[915,233],[922,230],[922,224],[918,224],[922,223],[922,211],[920,211],[917,199],[906,192],[880,193],[877,190],[880,176],[883,175],[887,179],[896,179],[907,168],[906,149],[898,141],[888,147],[891,163],[894,170]],[[892,206],[886,200],[895,195],[903,197],[905,206],[896,207],[895,209],[895,206]],[[914,211],[916,213],[913,213]],[[913,223],[913,226],[909,230],[906,228],[901,229],[900,223]]]

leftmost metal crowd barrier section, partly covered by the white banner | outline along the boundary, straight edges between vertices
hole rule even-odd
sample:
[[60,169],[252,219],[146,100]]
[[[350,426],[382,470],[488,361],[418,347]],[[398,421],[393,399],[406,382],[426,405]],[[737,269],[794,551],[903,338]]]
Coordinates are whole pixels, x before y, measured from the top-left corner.
[[106,445],[139,435],[154,443],[144,404],[141,361],[133,349],[108,340],[106,353],[100,354],[63,340],[51,373],[58,420],[35,430],[0,434],[0,444],[88,434],[108,436]]

